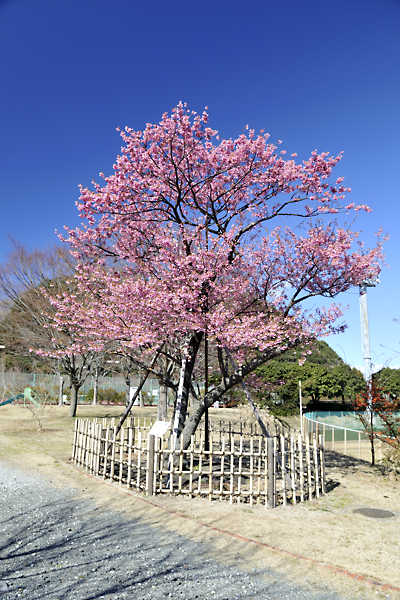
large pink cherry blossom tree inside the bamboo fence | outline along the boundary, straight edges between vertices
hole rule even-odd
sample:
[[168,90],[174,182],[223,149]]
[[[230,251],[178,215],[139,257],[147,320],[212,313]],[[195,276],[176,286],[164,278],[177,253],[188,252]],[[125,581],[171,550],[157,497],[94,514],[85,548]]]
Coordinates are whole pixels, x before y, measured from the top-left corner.
[[[182,104],[121,136],[114,173],[81,189],[82,227],[67,229],[87,300],[60,299],[58,326],[80,328],[76,352],[90,339],[150,357],[168,341],[186,355],[179,432],[187,444],[206,408],[257,367],[343,327],[335,324],[340,306],[310,299],[376,276],[382,243],[364,249],[341,224],[340,213],[369,211],[346,203],[343,178],[332,180],[341,154],[314,151],[296,162],[253,130],[220,140],[207,112]],[[193,379],[205,337],[218,349],[221,376],[199,394]]]

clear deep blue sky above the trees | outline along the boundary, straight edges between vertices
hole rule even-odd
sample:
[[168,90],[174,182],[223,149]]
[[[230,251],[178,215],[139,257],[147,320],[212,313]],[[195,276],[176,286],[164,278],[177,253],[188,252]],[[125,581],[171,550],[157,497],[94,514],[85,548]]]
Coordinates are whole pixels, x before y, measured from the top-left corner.
[[[368,292],[376,364],[400,365],[400,0],[0,0],[0,260],[78,224],[78,184],[112,171],[116,127],[182,100],[222,137],[265,128],[307,158],[345,151],[367,245],[389,269]],[[362,364],[358,290],[328,343]]]

